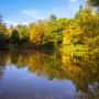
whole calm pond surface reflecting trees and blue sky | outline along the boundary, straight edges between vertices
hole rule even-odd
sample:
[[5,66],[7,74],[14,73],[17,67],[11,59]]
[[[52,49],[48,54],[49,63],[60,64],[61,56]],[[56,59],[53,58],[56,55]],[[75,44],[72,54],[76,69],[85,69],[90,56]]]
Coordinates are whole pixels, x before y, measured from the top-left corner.
[[99,54],[0,52],[0,99],[99,99]]

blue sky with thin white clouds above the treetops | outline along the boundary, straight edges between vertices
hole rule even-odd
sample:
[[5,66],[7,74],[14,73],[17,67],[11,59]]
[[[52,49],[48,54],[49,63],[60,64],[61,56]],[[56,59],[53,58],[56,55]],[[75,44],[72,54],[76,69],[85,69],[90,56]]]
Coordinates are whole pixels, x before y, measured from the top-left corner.
[[73,18],[85,0],[0,0],[0,14],[4,23],[29,24],[38,19]]

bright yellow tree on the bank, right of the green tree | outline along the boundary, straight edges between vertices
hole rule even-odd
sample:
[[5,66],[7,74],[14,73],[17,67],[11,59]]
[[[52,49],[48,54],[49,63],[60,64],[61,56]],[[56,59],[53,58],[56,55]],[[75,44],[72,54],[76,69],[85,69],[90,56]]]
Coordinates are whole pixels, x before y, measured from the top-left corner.
[[70,20],[67,28],[63,31],[64,41],[63,44],[74,45],[76,43],[81,43],[81,35],[84,31],[76,20]]

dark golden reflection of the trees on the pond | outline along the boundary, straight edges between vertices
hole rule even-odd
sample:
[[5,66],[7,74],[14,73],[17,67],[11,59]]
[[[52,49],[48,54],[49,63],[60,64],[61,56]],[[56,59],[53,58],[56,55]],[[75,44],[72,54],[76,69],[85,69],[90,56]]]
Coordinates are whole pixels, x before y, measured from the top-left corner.
[[26,67],[36,76],[48,80],[70,80],[76,87],[77,99],[99,98],[99,54],[84,56],[64,55],[57,52],[1,52],[0,79],[9,65]]

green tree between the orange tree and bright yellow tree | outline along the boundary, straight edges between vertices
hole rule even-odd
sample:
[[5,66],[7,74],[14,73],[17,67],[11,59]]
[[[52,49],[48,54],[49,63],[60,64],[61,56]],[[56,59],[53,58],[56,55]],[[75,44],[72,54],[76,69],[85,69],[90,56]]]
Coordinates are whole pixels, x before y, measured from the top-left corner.
[[53,19],[53,20],[48,20],[47,24],[46,24],[46,29],[47,29],[47,35],[48,35],[48,40],[50,42],[53,43],[54,47],[57,47],[58,45],[62,44],[63,42],[63,30],[65,29],[65,19]]

